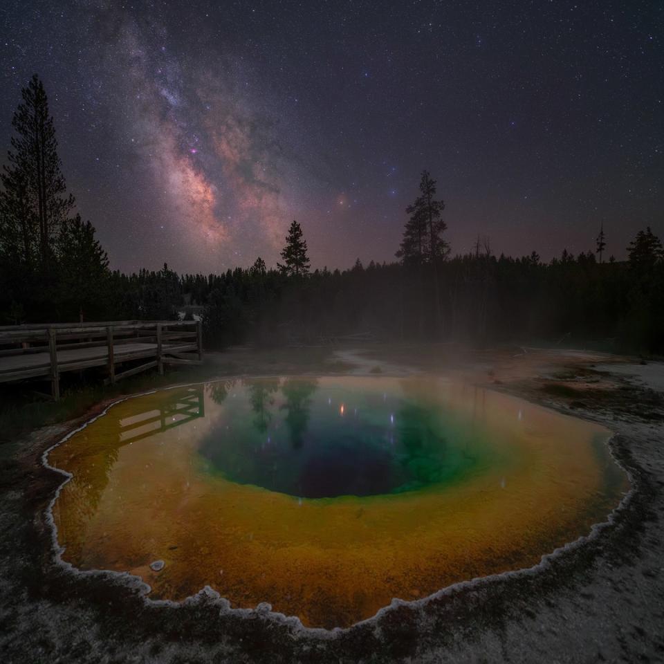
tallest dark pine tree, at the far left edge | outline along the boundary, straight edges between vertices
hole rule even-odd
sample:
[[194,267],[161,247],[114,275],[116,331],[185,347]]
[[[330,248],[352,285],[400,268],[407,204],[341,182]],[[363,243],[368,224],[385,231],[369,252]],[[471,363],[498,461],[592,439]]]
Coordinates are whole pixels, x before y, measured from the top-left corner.
[[22,95],[12,119],[16,135],[1,175],[0,242],[3,252],[12,252],[17,263],[38,262],[46,270],[75,201],[66,194],[53,118],[37,74]]

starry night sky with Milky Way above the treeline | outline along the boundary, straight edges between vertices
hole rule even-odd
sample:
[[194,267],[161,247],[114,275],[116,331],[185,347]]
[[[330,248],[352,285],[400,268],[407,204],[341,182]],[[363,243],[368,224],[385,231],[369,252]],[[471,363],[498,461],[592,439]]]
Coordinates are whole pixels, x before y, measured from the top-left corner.
[[452,252],[664,234],[664,4],[3,0],[0,150],[44,80],[111,266],[390,261],[422,169]]

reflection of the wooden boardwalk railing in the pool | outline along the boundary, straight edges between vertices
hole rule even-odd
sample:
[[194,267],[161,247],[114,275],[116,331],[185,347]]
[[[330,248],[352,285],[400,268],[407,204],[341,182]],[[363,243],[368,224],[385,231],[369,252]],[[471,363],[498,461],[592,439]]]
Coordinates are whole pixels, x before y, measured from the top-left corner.
[[[199,417],[205,417],[205,394],[202,385],[169,390],[164,394],[168,398],[160,402],[156,408],[118,420],[118,439],[122,445],[140,441]],[[128,420],[131,422],[123,424]],[[153,426],[145,430],[145,427],[150,425]]]

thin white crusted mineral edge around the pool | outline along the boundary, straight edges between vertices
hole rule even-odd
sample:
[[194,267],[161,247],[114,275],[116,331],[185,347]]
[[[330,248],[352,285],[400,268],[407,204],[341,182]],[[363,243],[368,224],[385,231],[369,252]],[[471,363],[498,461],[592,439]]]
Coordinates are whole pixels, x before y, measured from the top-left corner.
[[[301,374],[301,375],[304,376],[307,374]],[[313,376],[314,374],[310,375]],[[133,398],[138,398],[140,396],[147,396],[149,394],[155,394],[157,391],[164,391],[166,389],[181,389],[183,387],[196,387],[198,385],[206,385],[209,382],[216,382],[219,380],[233,380],[233,379],[240,380],[243,378],[268,378],[268,377],[275,378],[276,376],[245,376],[245,375],[222,376],[220,378],[210,378],[210,380],[205,380],[202,382],[191,382],[191,383],[185,383],[183,385],[169,385],[167,387],[158,387],[155,389],[150,389],[145,392],[140,392],[138,394],[130,394],[129,396],[124,396],[109,403],[109,405],[107,405],[107,407],[105,407],[102,410],[102,412],[100,412],[98,415],[95,415],[93,418],[89,419],[88,421],[80,425],[80,427],[75,428],[74,430],[66,434],[64,438],[57,441],[57,443],[51,445],[50,448],[45,450],[42,453],[42,463],[44,464],[44,468],[48,468],[48,470],[57,472],[62,476],[64,476],[65,478],[62,481],[62,484],[60,484],[58,488],[55,490],[55,495],[50,500],[48,507],[46,508],[46,522],[50,525],[51,540],[53,542],[53,553],[55,553],[55,561],[57,562],[57,564],[59,564],[59,566],[62,566],[68,573],[71,573],[72,575],[75,576],[101,576],[109,579],[109,581],[113,583],[122,583],[126,587],[129,587],[131,589],[136,589],[140,592],[142,600],[143,602],[145,602],[145,605],[148,608],[157,608],[157,607],[178,608],[183,606],[196,605],[203,602],[212,602],[212,604],[214,604],[216,607],[219,608],[220,615],[232,615],[232,616],[237,616],[238,618],[260,617],[266,620],[273,620],[275,623],[282,623],[284,625],[287,625],[288,627],[291,627],[292,630],[291,636],[303,636],[303,637],[317,636],[318,638],[330,639],[330,638],[336,638],[340,634],[343,634],[346,631],[354,629],[358,625],[375,623],[378,621],[378,618],[380,618],[383,614],[386,614],[388,611],[396,609],[397,607],[402,607],[402,606],[424,607],[432,600],[439,599],[445,596],[451,596],[453,593],[456,593],[457,591],[460,590],[479,588],[483,585],[486,585],[490,582],[494,582],[497,580],[515,579],[524,576],[534,576],[535,574],[540,573],[545,569],[548,569],[548,567],[551,566],[551,562],[553,562],[557,558],[562,557],[569,551],[575,551],[576,549],[580,548],[587,542],[595,540],[596,537],[598,537],[600,533],[605,530],[605,528],[612,526],[616,521],[618,513],[623,511],[627,507],[627,504],[629,504],[629,501],[631,500],[636,490],[636,481],[632,473],[627,468],[625,468],[620,463],[620,461],[618,461],[616,455],[614,454],[614,450],[611,448],[611,441],[615,438],[616,434],[609,436],[609,438],[605,441],[605,445],[607,445],[607,448],[609,450],[609,455],[611,456],[611,459],[613,459],[614,463],[618,465],[618,468],[620,468],[620,470],[623,470],[623,472],[627,474],[627,479],[629,480],[630,488],[627,491],[627,493],[625,493],[623,498],[620,500],[620,503],[618,503],[618,505],[613,510],[611,510],[611,513],[609,513],[607,520],[604,522],[600,522],[598,524],[593,524],[593,526],[591,526],[588,535],[582,535],[573,542],[568,542],[563,546],[559,546],[558,548],[555,548],[553,551],[551,551],[551,553],[544,553],[544,555],[542,555],[542,557],[540,558],[540,562],[533,565],[532,567],[510,570],[510,571],[500,572],[497,574],[490,574],[488,576],[479,576],[467,581],[459,581],[457,583],[451,584],[450,586],[446,586],[445,588],[442,588],[441,590],[436,591],[431,595],[428,595],[424,598],[419,598],[417,600],[400,600],[398,598],[393,598],[392,601],[389,603],[389,605],[382,607],[381,609],[378,609],[378,611],[376,611],[376,614],[374,614],[374,616],[371,616],[371,618],[365,618],[365,620],[360,620],[358,621],[358,623],[353,623],[353,625],[351,625],[350,627],[333,627],[333,629],[326,629],[324,627],[306,627],[306,625],[303,625],[302,621],[297,616],[286,616],[286,614],[273,611],[272,605],[270,605],[268,602],[261,602],[259,605],[257,605],[255,609],[241,609],[241,608],[236,609],[231,607],[230,600],[222,597],[216,590],[214,590],[212,587],[208,585],[203,587],[201,590],[199,590],[199,592],[195,593],[194,595],[185,598],[181,602],[174,602],[173,600],[153,600],[149,597],[149,593],[151,592],[151,587],[144,580],[142,580],[140,576],[130,574],[129,572],[116,572],[108,569],[81,570],[73,566],[73,564],[66,562],[66,560],[62,560],[62,554],[64,553],[65,547],[60,546],[57,541],[57,526],[55,525],[55,519],[53,519],[53,506],[55,505],[55,501],[57,501],[60,495],[60,491],[65,486],[65,484],[73,477],[73,474],[71,474],[70,472],[66,472],[66,470],[62,470],[61,468],[55,468],[55,466],[50,465],[50,463],[48,463],[48,454],[52,450],[57,448],[59,445],[62,445],[62,443],[68,441],[68,439],[70,439],[71,436],[82,431],[86,426],[88,426],[89,424],[93,423],[95,420],[98,420],[100,417],[107,414],[107,412],[109,412],[109,409],[111,409],[113,406],[118,405],[118,403],[122,403],[123,401],[127,401]],[[352,377],[353,376],[351,376],[351,378]],[[376,376],[376,378],[386,378],[386,376],[381,374],[380,376]],[[490,388],[484,388],[484,389],[490,389]],[[540,406],[540,407],[546,408],[546,406]],[[569,414],[564,414],[560,411],[556,412],[562,416],[568,416],[568,417],[571,416]]]

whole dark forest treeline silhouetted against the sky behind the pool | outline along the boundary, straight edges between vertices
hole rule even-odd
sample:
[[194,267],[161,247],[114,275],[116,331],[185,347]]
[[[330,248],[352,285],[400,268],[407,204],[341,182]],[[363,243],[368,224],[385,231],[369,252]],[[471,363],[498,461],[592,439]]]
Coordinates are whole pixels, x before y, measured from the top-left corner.
[[593,250],[545,263],[493,255],[479,240],[450,254],[443,201],[423,172],[406,210],[396,261],[311,270],[304,232],[288,230],[282,263],[221,274],[162,270],[123,274],[95,229],[75,214],[57,157],[53,118],[35,76],[12,125],[15,138],[0,190],[2,324],[169,319],[201,315],[208,347],[334,342],[454,340],[470,344],[585,342],[664,352],[664,255],[649,229],[629,259],[605,261],[601,228]]

